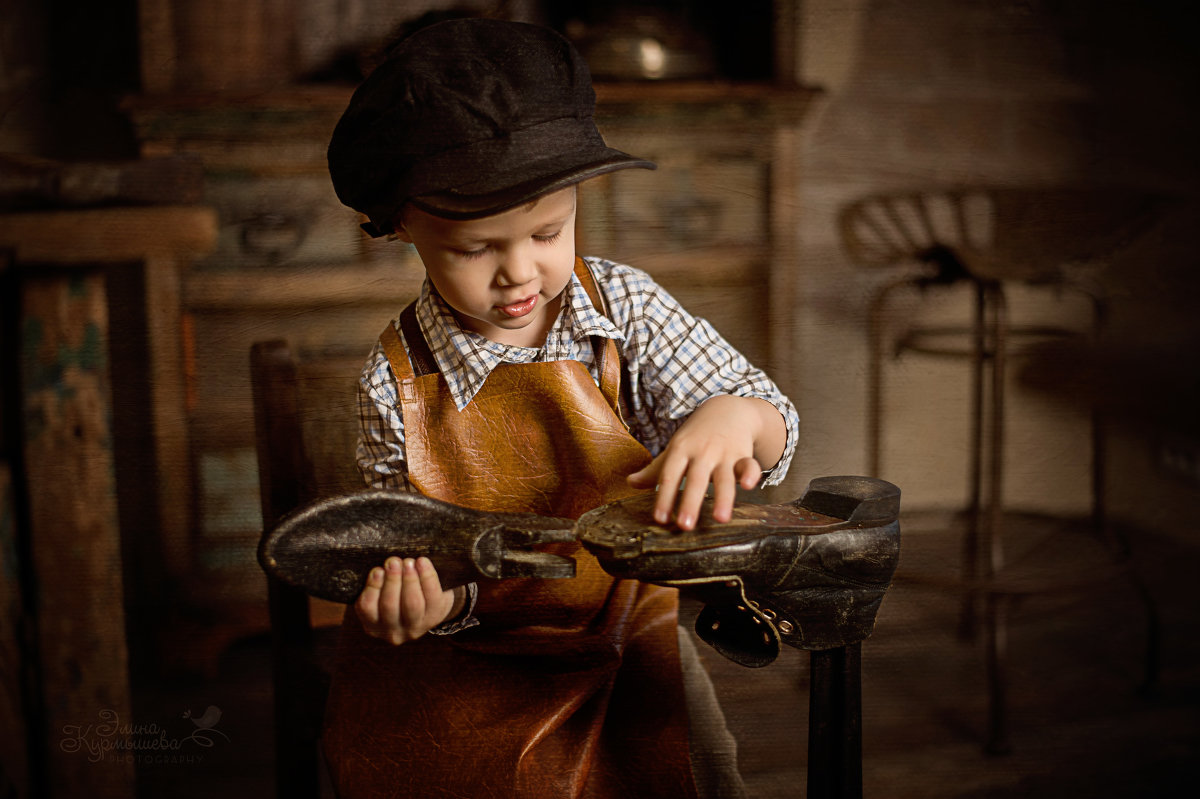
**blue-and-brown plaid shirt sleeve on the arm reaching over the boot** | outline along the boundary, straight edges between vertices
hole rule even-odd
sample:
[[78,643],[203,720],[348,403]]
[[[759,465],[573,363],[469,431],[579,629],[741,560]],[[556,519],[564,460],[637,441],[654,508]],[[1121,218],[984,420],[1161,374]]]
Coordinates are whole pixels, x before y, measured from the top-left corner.
[[757,397],[779,410],[787,429],[784,452],[760,485],[784,480],[799,438],[796,405],[761,368],[707,320],[691,316],[649,275],[600,262],[610,313],[625,334],[634,434],[654,455],[706,400],[718,395]]

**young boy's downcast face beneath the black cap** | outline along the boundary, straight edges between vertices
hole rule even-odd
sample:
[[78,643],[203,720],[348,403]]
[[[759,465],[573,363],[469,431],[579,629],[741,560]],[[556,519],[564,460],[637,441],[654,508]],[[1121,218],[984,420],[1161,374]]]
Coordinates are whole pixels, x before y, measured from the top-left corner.
[[444,220],[409,205],[396,234],[416,247],[464,329],[541,347],[575,269],[575,186],[481,220]]

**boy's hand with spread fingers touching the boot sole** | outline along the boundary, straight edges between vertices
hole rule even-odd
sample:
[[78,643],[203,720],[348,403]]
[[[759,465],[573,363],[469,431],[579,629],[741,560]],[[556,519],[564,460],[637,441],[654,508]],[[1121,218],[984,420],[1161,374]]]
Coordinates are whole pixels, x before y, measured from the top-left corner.
[[[679,426],[658,457],[629,475],[636,488],[658,486],[654,519],[690,530],[700,519],[701,503],[713,485],[713,518],[728,522],[737,488],[754,488],[762,463],[774,465],[784,453],[787,429],[780,413],[764,400],[720,395],[704,401]],[[679,486],[683,485],[683,491]]]

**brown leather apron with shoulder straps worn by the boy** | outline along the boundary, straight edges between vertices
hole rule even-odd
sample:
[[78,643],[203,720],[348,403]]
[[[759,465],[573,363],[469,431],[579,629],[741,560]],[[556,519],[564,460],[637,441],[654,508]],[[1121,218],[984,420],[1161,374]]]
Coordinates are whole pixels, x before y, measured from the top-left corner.
[[[576,274],[601,308],[582,260]],[[611,340],[596,340],[599,388],[578,361],[502,364],[462,411],[391,325],[380,341],[409,480],[430,497],[576,518],[629,495],[625,475],[649,461],[619,417]],[[324,732],[341,799],[695,797],[676,591],[556,546],[574,579],[484,581],[480,625],[452,636],[392,647],[346,614]]]

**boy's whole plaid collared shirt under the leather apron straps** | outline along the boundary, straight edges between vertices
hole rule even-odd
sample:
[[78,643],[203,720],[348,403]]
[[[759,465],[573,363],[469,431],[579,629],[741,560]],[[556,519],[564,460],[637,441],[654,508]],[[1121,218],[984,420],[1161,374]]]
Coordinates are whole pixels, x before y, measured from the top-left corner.
[[[438,370],[460,409],[464,408],[500,362],[576,360],[599,383],[592,336],[617,340],[630,382],[630,433],[652,455],[666,446],[679,425],[709,397],[730,394],[766,400],[787,423],[787,444],[779,463],[763,475],[775,485],[787,474],[796,451],[799,419],[775,384],[703,319],[692,317],[646,272],[600,258],[587,258],[608,317],[593,307],[580,280],[571,276],[563,308],[541,348],[498,344],[463,330],[426,280],[416,319]],[[394,322],[397,328],[398,320]],[[403,332],[401,332],[403,338]],[[404,422],[396,378],[376,343],[359,379],[359,469],[374,488],[404,488]]]

